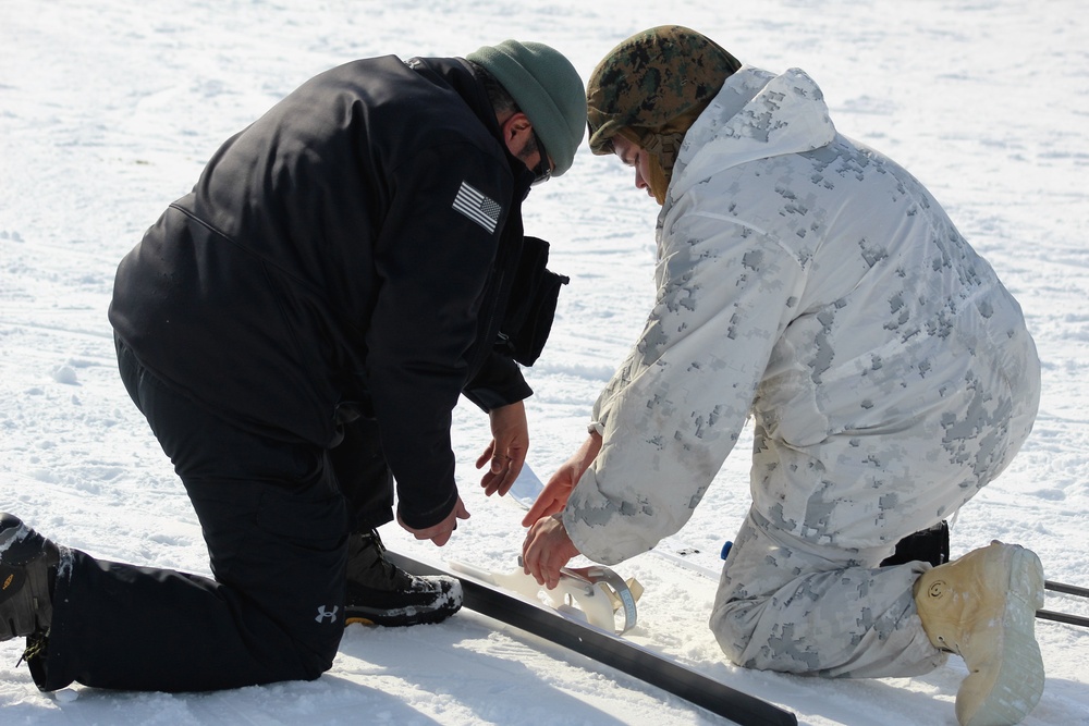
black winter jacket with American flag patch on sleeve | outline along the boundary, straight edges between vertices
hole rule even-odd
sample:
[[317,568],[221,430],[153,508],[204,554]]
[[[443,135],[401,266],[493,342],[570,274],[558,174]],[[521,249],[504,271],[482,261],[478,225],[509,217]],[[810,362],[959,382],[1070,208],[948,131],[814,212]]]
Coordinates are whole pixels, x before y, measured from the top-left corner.
[[110,321],[155,374],[265,435],[377,419],[416,528],[452,509],[451,411],[531,392],[493,342],[533,174],[458,59],[308,81],[208,162],[118,269]]

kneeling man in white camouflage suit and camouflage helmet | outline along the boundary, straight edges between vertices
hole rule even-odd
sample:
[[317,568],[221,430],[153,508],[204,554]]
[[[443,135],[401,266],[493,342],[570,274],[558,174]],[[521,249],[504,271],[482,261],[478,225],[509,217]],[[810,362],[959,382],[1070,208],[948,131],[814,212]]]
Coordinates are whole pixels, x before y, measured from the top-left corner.
[[676,532],[751,415],[752,505],[710,622],[726,656],[902,677],[954,652],[960,723],[1020,721],[1043,688],[1039,558],[995,542],[888,564],[1028,436],[1040,369],[1017,303],[800,70],[663,26],[617,46],[587,96],[594,152],[662,205],[658,295],[526,517],[526,571],[554,586],[579,553],[615,564]]

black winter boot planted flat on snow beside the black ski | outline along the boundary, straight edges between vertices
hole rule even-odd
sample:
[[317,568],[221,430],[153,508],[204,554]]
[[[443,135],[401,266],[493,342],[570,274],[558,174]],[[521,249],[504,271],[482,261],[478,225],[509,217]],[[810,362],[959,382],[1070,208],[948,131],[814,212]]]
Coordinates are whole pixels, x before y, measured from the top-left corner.
[[348,537],[346,623],[403,626],[439,623],[462,606],[452,577],[417,577],[386,558],[377,530]]

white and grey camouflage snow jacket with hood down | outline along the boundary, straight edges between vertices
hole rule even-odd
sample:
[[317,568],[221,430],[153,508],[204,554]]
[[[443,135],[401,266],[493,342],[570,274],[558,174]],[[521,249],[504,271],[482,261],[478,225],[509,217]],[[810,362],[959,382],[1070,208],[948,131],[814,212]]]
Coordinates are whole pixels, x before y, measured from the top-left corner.
[[836,133],[804,72],[726,81],[657,236],[657,302],[595,404],[603,445],[563,513],[591,559],[676,532],[749,414],[760,515],[890,551],[1031,428],[1039,362],[1017,303],[922,185]]

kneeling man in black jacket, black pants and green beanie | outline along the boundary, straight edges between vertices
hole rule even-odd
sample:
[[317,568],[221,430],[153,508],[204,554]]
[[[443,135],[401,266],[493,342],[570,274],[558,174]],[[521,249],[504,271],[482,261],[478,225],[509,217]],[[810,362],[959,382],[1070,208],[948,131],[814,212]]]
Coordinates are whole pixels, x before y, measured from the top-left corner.
[[463,393],[491,419],[486,493],[522,468],[515,361],[539,354],[559,281],[521,204],[585,126],[571,63],[507,40],[335,67],[216,152],[121,262],[110,307],[122,380],[216,579],[96,561],[0,516],[0,640],[28,637],[39,688],[311,679],[345,622],[457,610],[455,580],[396,569],[375,528],[394,479],[417,539],[442,545],[468,517],[450,443]]

